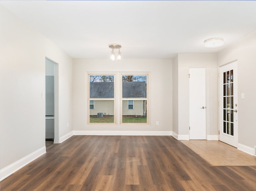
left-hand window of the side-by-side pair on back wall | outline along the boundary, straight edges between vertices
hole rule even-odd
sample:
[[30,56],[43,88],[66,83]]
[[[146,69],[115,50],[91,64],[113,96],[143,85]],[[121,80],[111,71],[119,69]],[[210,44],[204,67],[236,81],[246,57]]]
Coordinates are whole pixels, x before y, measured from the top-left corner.
[[114,123],[114,75],[88,75],[89,123]]

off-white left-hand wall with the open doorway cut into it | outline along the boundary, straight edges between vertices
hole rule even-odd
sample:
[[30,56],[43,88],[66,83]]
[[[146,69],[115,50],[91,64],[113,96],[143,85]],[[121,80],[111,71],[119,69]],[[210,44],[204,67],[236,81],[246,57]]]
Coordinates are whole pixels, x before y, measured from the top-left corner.
[[72,131],[72,59],[2,5],[0,26],[0,169],[8,173],[14,162],[45,151],[46,56],[59,63],[60,136]]

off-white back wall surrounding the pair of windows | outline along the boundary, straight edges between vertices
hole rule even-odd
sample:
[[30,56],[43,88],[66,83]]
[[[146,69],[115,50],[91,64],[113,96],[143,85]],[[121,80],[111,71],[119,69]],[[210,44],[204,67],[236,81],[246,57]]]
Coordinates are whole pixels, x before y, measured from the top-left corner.
[[[150,125],[120,125],[120,101],[117,101],[117,125],[88,125],[86,116],[86,72],[149,72]],[[120,79],[117,76],[116,79]],[[117,92],[120,84],[117,81]],[[117,98],[120,98],[117,95]],[[79,131],[172,131],[172,60],[171,59],[74,59],[73,121]],[[156,121],[159,125],[156,126]]]

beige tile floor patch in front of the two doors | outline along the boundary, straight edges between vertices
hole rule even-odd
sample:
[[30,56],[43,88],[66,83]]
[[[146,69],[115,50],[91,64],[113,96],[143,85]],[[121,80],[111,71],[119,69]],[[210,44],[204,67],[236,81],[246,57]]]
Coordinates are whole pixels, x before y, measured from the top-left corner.
[[220,141],[181,140],[213,166],[256,166],[256,157]]

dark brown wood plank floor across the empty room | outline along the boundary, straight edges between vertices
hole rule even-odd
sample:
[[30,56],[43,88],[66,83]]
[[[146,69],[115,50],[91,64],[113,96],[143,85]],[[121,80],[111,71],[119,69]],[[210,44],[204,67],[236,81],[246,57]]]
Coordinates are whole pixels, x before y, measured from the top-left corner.
[[72,136],[1,191],[256,191],[256,166],[211,166],[171,136]]

